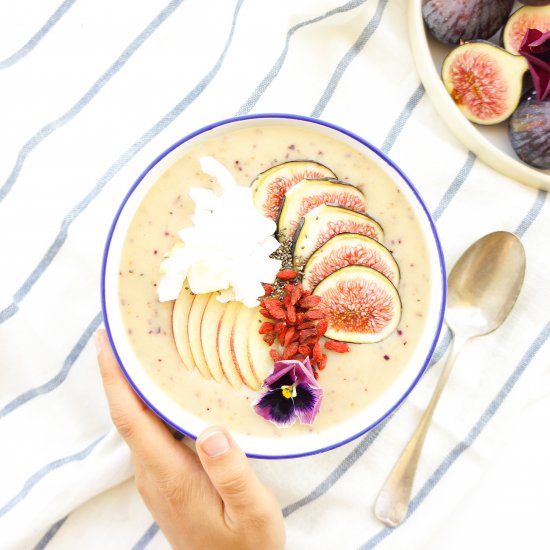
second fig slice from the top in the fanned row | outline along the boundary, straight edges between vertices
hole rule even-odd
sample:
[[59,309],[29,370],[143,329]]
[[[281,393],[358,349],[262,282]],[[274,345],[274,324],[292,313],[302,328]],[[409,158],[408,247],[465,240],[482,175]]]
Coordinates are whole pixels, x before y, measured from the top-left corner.
[[279,241],[291,240],[300,220],[320,204],[335,204],[356,212],[365,212],[367,207],[365,195],[351,183],[334,179],[302,180],[283,198],[277,222]]

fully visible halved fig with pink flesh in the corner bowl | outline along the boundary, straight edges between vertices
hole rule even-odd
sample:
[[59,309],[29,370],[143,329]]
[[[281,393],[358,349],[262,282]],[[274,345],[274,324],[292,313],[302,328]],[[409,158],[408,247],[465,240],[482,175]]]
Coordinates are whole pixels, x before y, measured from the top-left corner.
[[498,124],[521,98],[527,60],[483,41],[454,48],[443,61],[442,78],[462,113],[478,124]]

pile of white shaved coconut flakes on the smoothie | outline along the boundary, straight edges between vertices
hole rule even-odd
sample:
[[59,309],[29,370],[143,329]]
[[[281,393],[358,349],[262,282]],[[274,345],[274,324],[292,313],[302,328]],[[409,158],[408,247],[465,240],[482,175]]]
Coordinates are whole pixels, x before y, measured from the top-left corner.
[[271,282],[281,262],[270,255],[279,248],[275,222],[254,206],[250,188],[237,185],[223,164],[201,157],[201,168],[216,178],[222,194],[192,188],[192,226],[181,229],[178,242],[160,266],[157,287],[161,302],[175,300],[188,280],[194,294],[218,292],[217,300],[258,305],[262,282]]

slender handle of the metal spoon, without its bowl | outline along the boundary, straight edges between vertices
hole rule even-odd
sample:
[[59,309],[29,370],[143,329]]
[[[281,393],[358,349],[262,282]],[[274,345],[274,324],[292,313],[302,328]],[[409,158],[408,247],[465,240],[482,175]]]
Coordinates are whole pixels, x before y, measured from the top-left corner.
[[424,411],[415,432],[378,494],[374,504],[374,514],[380,521],[390,527],[399,525],[407,515],[414,476],[418,466],[420,452],[424,445],[424,439],[426,438],[441,392],[445,387],[445,383],[449,378],[449,374],[451,373],[456,358],[465,341],[465,338],[457,338],[456,336],[453,339],[451,351],[441,375],[439,376],[430,403]]

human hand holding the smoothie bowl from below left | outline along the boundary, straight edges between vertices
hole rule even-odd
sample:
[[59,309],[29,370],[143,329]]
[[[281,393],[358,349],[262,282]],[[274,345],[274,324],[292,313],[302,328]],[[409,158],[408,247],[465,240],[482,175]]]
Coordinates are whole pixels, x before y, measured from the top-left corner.
[[174,548],[280,549],[280,506],[222,428],[206,429],[197,454],[134,393],[104,330],[95,335],[111,417],[132,451],[136,486]]

